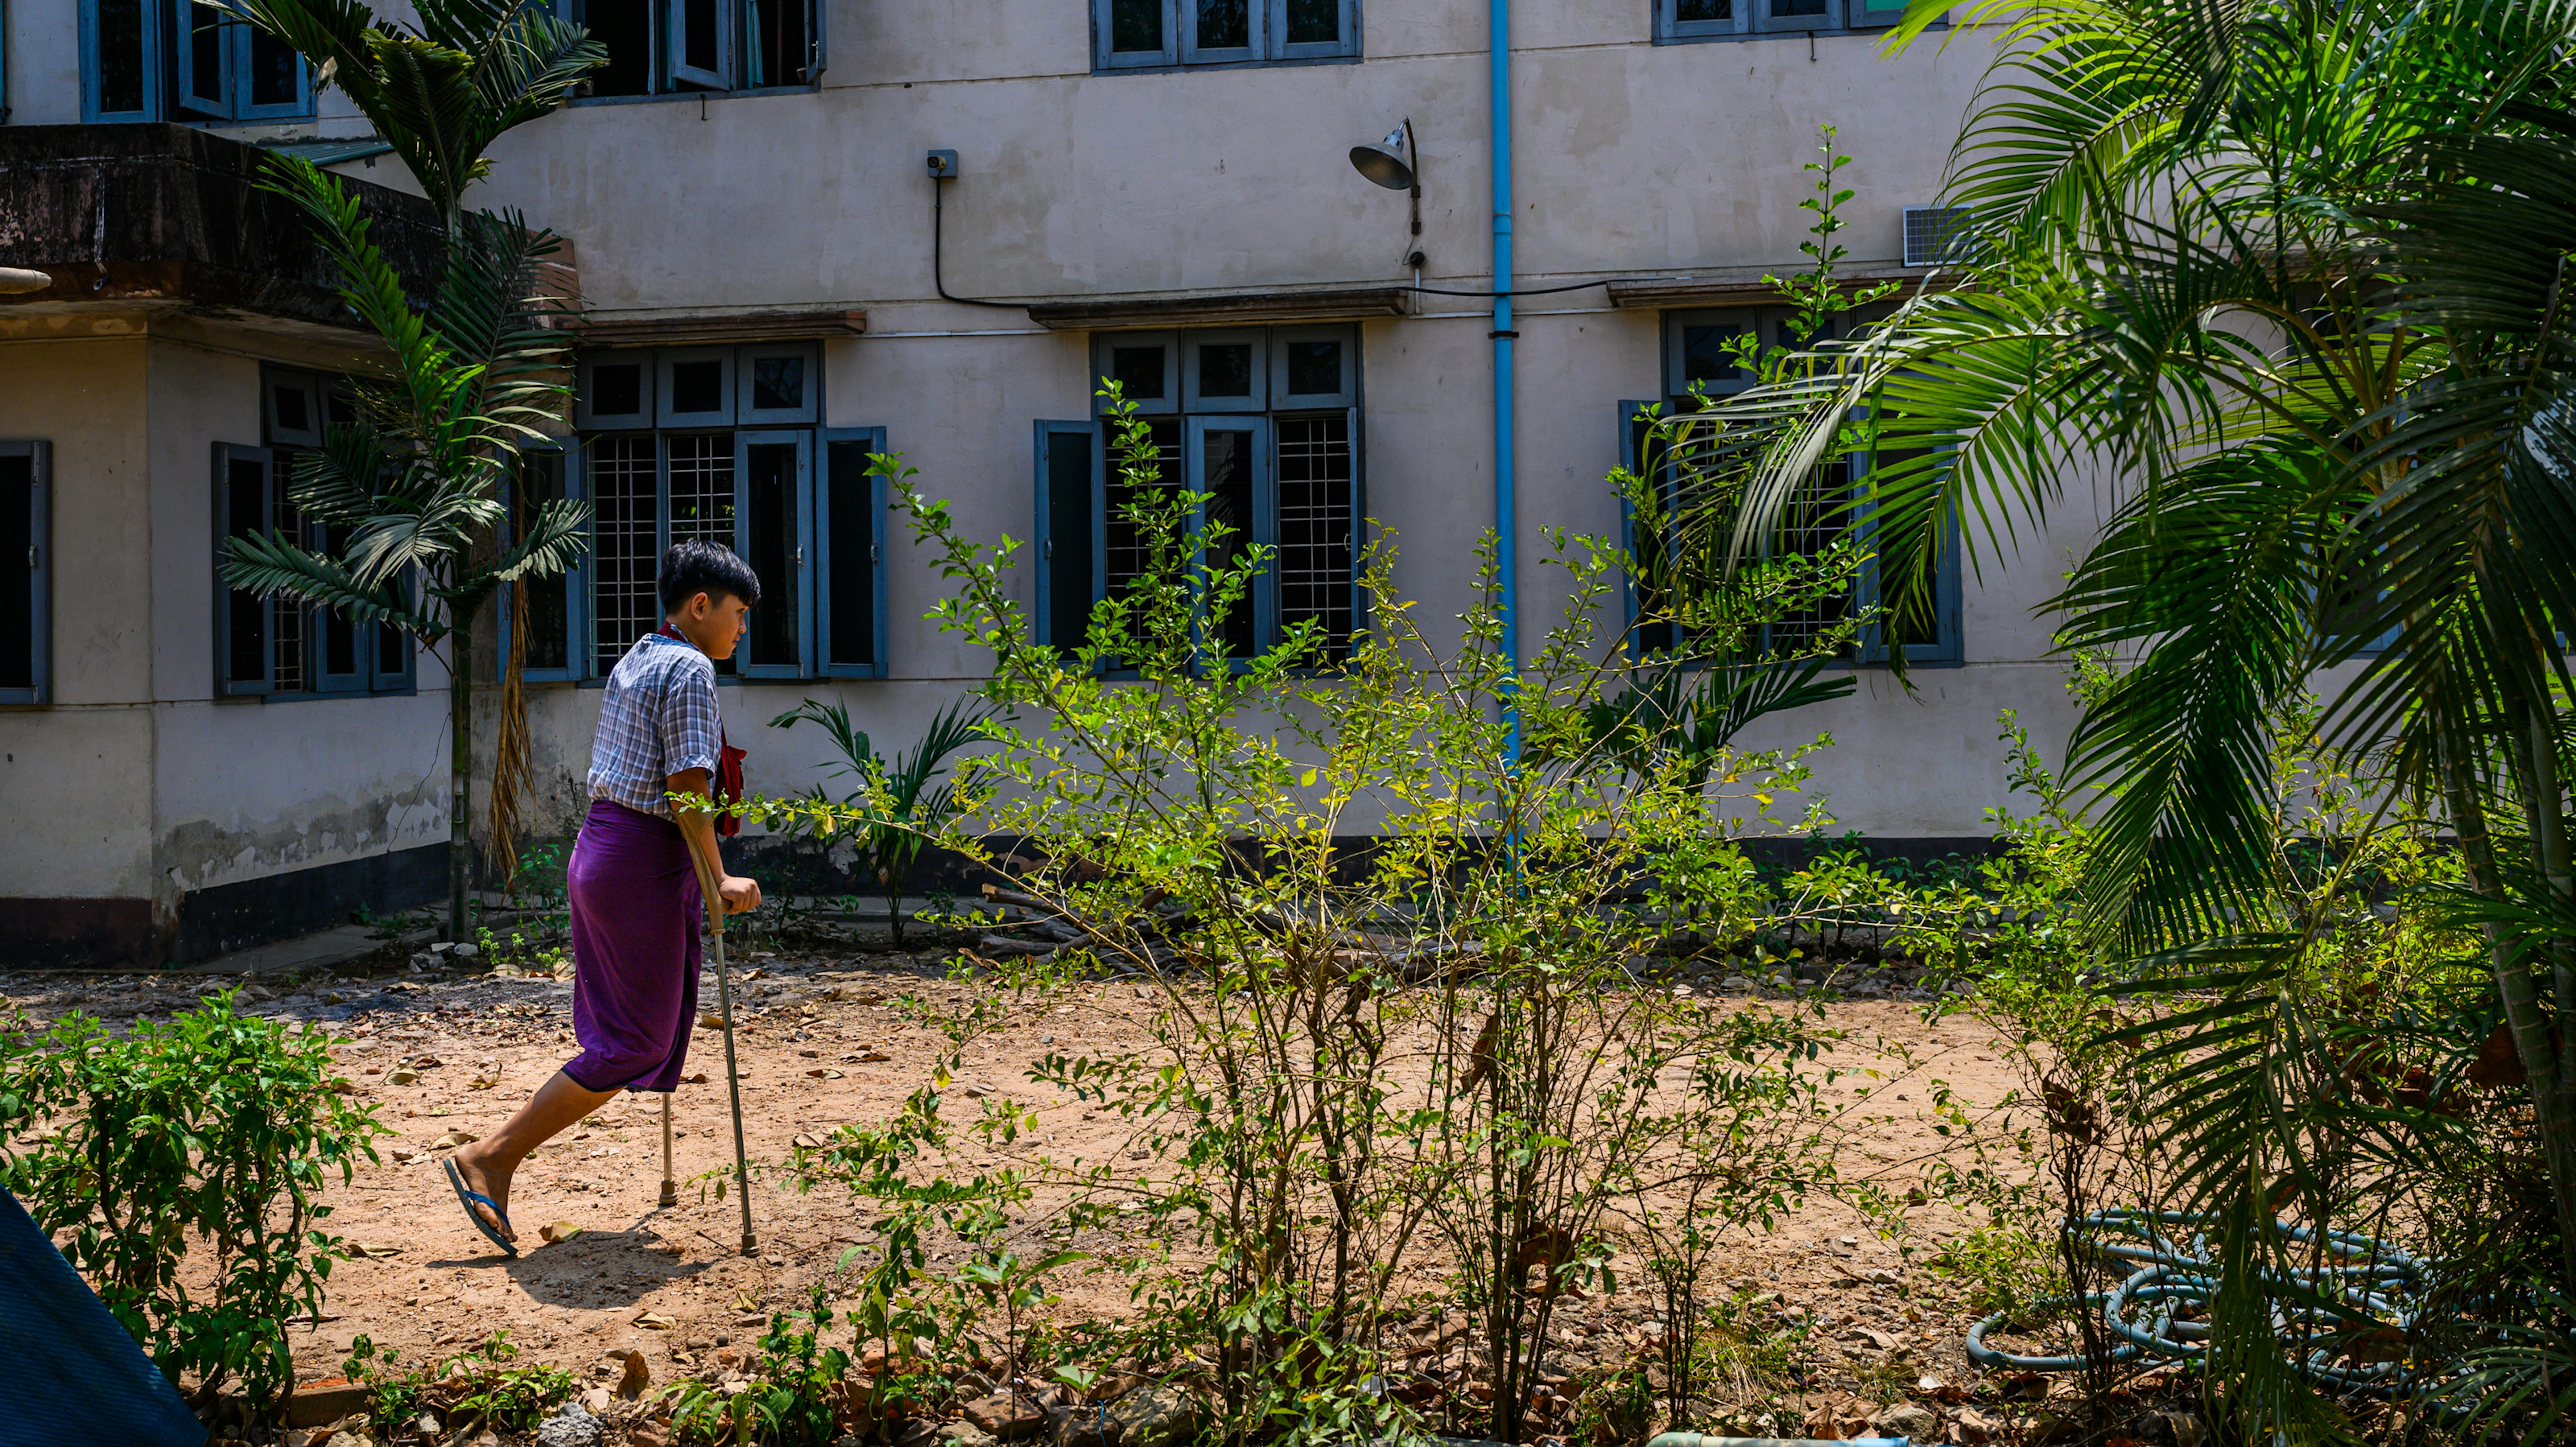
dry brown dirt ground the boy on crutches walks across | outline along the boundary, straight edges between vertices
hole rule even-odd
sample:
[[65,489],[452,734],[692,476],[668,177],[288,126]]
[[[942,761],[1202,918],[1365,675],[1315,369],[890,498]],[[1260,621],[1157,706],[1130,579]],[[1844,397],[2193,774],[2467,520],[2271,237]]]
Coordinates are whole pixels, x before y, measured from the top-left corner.
[[[907,1020],[899,1007],[907,994],[945,1007],[976,991],[992,994],[1007,1012],[1005,1022],[969,1045],[956,1089],[994,1092],[1038,1112],[1038,1128],[1010,1146],[987,1151],[966,1138],[953,1166],[1097,1164],[1123,1146],[1113,1117],[1090,1120],[1077,1102],[1033,1084],[1025,1071],[1048,1048],[1144,1043],[1149,1007],[1139,991],[1126,981],[1100,981],[1054,999],[1015,996],[951,981],[953,955],[775,950],[734,963],[742,1110],[755,1164],[781,1161],[801,1133],[829,1135],[845,1123],[878,1123],[925,1081],[948,1043]],[[1989,1027],[1965,1014],[1927,1022],[1924,996],[1904,989],[1901,978],[1888,996],[1886,984],[1862,986],[1878,999],[1834,996],[1826,1020],[1855,1038],[1901,1040],[1922,1061],[1917,1074],[1880,1089],[1880,1107],[1896,1117],[1855,1133],[1842,1161],[1850,1174],[1878,1172],[1901,1190],[1911,1161],[1947,1148],[1932,1130],[1935,1081],[1971,1107],[1994,1107],[2012,1092],[2014,1076]],[[659,1105],[654,1097],[623,1097],[551,1141],[520,1172],[510,1200],[520,1256],[487,1246],[448,1192],[435,1141],[456,1130],[492,1130],[574,1053],[569,981],[402,963],[286,978],[15,973],[0,978],[0,1017],[10,1007],[33,1020],[82,1009],[121,1025],[193,1007],[196,996],[227,986],[242,989],[245,1009],[330,1030],[355,1099],[376,1105],[379,1120],[394,1130],[379,1141],[379,1166],[361,1169],[345,1187],[332,1182],[327,1195],[335,1208],[327,1226],[363,1254],[332,1272],[322,1321],[294,1326],[296,1365],[307,1380],[337,1372],[358,1334],[417,1362],[497,1329],[510,1331],[523,1359],[569,1367],[585,1385],[611,1380],[611,1354],[631,1349],[644,1352],[657,1385],[675,1375],[719,1375],[726,1357],[760,1334],[762,1313],[801,1305],[809,1282],[868,1236],[837,1190],[799,1195],[773,1174],[752,1190],[760,1254],[739,1254],[737,1202],[708,1190],[714,1174],[732,1169],[732,1138],[721,1035],[701,1025],[688,1069],[693,1079],[703,1071],[703,1084],[685,1084],[675,1102],[680,1205],[654,1205]],[[1741,984],[1700,981],[1698,989],[1777,999]],[[714,1009],[714,999],[708,978],[701,1002]],[[417,1079],[394,1084],[397,1071]],[[538,1228],[551,1223],[580,1231],[546,1244]],[[1718,1277],[1731,1287],[1777,1293],[1775,1321],[1803,1329],[1798,1357],[1806,1388],[1857,1388],[1865,1398],[1888,1401],[1919,1375],[1953,1383],[1971,1375],[1960,1349],[1968,1316],[1958,1287],[1922,1264],[1940,1238],[1968,1223],[1947,1208],[1927,1208],[1904,1241],[1891,1241],[1868,1231],[1852,1210],[1814,1200],[1777,1231],[1736,1244]],[[1066,1305],[1126,1311],[1126,1293],[1108,1282],[1066,1282]],[[1646,1295],[1625,1290],[1571,1303],[1564,1321],[1571,1341],[1615,1354],[1643,1341],[1654,1316]],[[1788,1434],[1795,1424],[1780,1429]]]

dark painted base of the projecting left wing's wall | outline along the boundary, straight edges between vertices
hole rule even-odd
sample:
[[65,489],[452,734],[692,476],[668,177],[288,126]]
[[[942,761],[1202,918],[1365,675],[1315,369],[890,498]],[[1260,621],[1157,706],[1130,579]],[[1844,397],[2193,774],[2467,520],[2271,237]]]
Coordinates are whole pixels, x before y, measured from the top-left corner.
[[5,899],[0,966],[178,966],[270,940],[430,904],[448,891],[448,847],[422,845],[337,865],[188,891],[157,922],[149,899]]

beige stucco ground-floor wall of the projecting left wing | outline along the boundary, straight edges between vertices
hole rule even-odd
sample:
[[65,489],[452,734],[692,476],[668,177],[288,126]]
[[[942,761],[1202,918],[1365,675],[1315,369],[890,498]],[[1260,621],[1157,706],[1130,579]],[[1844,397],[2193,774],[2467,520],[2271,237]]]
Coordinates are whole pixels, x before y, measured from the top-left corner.
[[54,703],[0,708],[0,896],[167,906],[446,839],[440,693],[214,698],[214,443],[260,440],[263,358],[327,353],[139,317],[13,330],[0,438],[54,448]]

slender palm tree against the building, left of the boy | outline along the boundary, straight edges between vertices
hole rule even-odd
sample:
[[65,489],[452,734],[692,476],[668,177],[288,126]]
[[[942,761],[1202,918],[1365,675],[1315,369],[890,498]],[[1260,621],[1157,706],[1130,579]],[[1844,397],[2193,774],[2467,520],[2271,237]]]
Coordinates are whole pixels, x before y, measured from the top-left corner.
[[[340,294],[386,345],[392,368],[358,386],[361,422],[330,427],[325,448],[291,479],[296,507],[345,525],[340,556],[245,538],[227,548],[224,579],[384,618],[433,649],[448,641],[448,937],[464,940],[474,615],[505,582],[572,566],[587,525],[580,507],[559,502],[538,510],[513,546],[500,543],[518,451],[564,420],[572,394],[559,371],[569,345],[536,324],[536,263],[554,239],[515,216],[464,211],[464,191],[492,167],[484,152],[502,131],[556,111],[608,51],[533,0],[420,0],[417,28],[379,21],[355,0],[232,5],[374,121],[448,237],[446,275],[420,314],[366,239],[355,203],[314,167],[278,160],[278,188],[312,216]],[[471,561],[495,554],[500,561]],[[402,595],[407,572],[420,579],[417,597]]]

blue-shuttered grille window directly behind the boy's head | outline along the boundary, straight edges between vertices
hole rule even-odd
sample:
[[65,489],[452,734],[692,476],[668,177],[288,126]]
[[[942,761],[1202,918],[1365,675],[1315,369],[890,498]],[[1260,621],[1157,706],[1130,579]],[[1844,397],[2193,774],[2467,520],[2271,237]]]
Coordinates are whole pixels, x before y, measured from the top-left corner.
[[[528,626],[549,631],[546,651],[564,667],[526,677],[608,677],[662,626],[654,574],[662,551],[688,538],[724,543],[760,574],[744,646],[719,675],[886,677],[886,484],[871,476],[886,430],[819,422],[814,342],[585,355],[562,487],[590,499],[590,556],[562,605],[531,608]],[[562,649],[556,631],[569,633]]]

